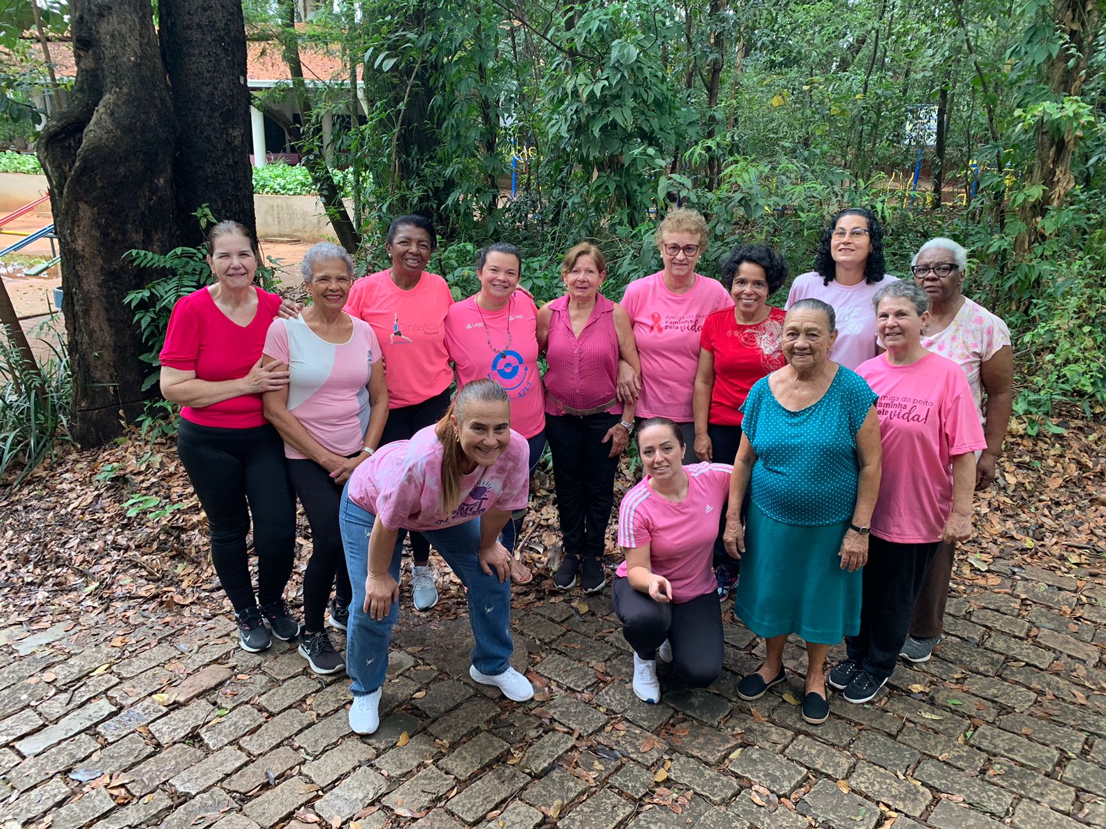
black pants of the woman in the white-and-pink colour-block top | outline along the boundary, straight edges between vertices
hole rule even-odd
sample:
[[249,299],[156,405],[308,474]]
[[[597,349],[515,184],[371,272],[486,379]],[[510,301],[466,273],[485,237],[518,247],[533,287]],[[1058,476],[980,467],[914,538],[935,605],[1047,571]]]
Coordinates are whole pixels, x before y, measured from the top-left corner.
[[303,623],[305,630],[314,633],[323,629],[323,611],[331,598],[332,584],[343,605],[348,606],[353,598],[338,528],[342,485],[307,459],[290,459],[288,476],[311,525],[311,558],[303,574]]

